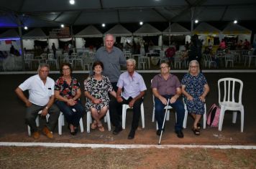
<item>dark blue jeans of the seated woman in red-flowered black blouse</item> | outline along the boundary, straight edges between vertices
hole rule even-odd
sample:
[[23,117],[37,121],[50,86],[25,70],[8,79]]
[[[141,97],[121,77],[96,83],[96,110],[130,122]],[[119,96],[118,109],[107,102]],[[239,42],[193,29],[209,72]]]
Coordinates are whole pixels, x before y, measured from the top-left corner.
[[[56,100],[55,104],[59,107],[60,111],[63,112],[65,120],[67,120],[68,124],[78,127],[79,120],[85,114],[81,101],[78,100],[76,105],[73,106],[69,106],[66,102],[60,100]],[[76,112],[73,112],[72,109],[75,109]]]

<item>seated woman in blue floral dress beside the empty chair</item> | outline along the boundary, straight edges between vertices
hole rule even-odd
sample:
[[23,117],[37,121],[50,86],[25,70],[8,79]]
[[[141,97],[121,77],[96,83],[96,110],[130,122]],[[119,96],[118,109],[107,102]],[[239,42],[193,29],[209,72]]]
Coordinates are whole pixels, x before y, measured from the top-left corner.
[[196,60],[189,62],[188,73],[181,80],[181,90],[188,113],[194,119],[192,130],[195,135],[200,135],[200,123],[198,122],[204,115],[204,102],[209,92],[209,85],[204,74],[200,73],[199,63]]

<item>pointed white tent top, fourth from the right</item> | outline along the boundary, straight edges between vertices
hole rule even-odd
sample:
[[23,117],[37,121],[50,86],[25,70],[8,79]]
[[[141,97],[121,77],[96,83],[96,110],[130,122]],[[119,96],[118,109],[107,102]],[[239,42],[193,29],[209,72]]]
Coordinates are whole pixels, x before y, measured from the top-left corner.
[[150,24],[144,24],[133,33],[134,36],[156,36],[162,34],[158,29],[151,26]]

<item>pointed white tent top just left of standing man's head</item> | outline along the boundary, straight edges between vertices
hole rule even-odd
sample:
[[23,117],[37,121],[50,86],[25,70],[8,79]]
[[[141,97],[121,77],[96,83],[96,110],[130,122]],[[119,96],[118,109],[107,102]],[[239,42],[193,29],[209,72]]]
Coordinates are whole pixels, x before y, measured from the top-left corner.
[[103,34],[95,26],[89,25],[76,34],[75,37],[103,37]]

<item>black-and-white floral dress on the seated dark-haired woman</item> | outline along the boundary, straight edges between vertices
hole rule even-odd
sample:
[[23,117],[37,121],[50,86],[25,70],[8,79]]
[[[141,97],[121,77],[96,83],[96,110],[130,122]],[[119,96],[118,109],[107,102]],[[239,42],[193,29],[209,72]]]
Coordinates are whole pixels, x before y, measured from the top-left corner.
[[91,107],[100,111],[102,107],[109,107],[109,92],[113,91],[113,87],[109,78],[102,75],[101,80],[95,79],[93,76],[88,77],[84,81],[84,90],[89,92],[90,95],[96,99],[101,99],[102,102],[99,104],[94,104],[90,99],[86,98],[86,110],[90,110]]

